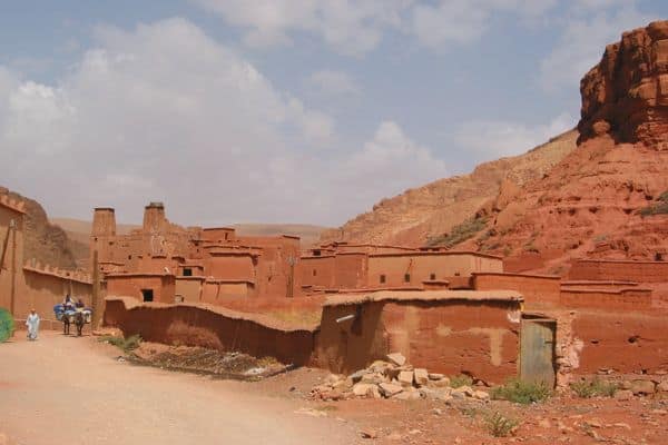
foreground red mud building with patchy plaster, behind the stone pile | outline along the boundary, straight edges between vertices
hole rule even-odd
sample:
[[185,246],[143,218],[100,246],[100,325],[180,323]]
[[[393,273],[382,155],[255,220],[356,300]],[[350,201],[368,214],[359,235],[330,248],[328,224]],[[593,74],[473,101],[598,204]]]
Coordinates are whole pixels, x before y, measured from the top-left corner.
[[[435,373],[501,383],[518,373],[521,296],[493,294],[385,291],[333,297],[323,308],[314,362],[351,373],[400,352],[412,365]],[[342,320],[346,316],[353,317]]]

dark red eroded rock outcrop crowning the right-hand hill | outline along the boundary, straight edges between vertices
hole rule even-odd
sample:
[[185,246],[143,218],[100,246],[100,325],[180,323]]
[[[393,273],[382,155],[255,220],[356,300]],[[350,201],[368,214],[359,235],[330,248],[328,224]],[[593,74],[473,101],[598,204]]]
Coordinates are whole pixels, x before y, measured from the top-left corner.
[[580,91],[580,141],[610,132],[617,142],[668,150],[668,21],[609,44]]

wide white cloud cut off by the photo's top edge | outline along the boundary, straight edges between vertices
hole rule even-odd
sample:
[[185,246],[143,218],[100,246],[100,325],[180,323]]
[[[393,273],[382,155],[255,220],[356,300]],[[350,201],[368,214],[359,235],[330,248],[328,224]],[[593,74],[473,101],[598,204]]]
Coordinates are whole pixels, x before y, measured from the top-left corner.
[[254,47],[287,44],[296,32],[321,37],[336,51],[360,56],[375,49],[386,32],[414,34],[441,48],[481,37],[494,12],[532,20],[557,0],[191,0],[245,30]]

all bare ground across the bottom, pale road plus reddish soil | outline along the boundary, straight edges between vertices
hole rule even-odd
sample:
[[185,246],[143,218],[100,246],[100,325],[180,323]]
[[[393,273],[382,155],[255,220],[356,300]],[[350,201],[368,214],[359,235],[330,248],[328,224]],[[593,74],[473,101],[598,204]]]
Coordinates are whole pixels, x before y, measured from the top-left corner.
[[[256,383],[212,380],[132,366],[94,337],[47,333],[0,345],[0,432],[10,444],[664,444],[668,403],[659,398],[553,397],[507,402],[316,402],[326,372],[301,368]],[[67,357],[67,359],[63,359]],[[492,413],[518,419],[493,437]],[[366,432],[375,438],[362,438]],[[0,434],[0,439],[2,438]]]

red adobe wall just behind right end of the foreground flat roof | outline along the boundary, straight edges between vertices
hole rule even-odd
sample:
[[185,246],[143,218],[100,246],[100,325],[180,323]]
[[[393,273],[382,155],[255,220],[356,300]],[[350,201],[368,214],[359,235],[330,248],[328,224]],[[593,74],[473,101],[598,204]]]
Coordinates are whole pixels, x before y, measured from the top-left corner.
[[548,275],[474,273],[475,290],[510,289],[524,297],[527,306],[540,307],[559,304],[561,278]]

